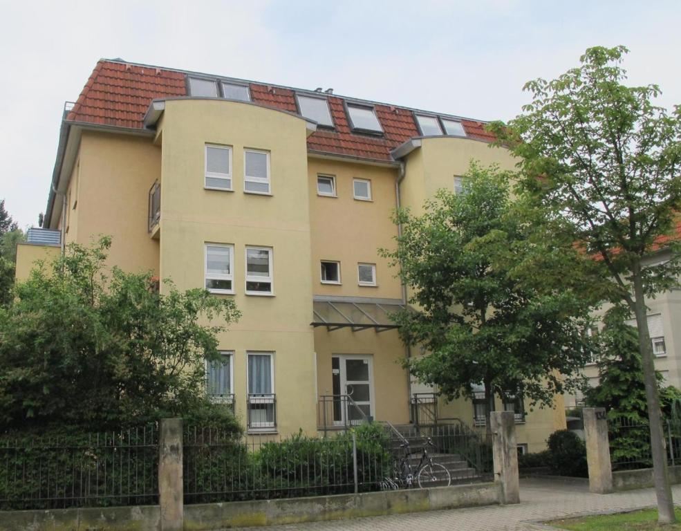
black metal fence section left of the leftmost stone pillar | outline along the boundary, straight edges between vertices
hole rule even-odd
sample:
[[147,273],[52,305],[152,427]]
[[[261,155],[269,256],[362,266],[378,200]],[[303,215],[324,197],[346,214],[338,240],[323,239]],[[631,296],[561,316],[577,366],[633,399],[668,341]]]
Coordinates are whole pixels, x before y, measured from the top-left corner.
[[0,510],[158,503],[158,430],[0,440]]

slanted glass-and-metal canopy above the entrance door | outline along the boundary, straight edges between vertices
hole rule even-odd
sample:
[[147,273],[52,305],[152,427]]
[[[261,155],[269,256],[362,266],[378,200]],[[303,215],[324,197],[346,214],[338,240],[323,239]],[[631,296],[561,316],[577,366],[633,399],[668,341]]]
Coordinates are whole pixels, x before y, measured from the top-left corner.
[[339,328],[357,330],[373,329],[377,332],[399,328],[389,313],[404,308],[402,304],[347,300],[315,300],[312,302],[312,326],[326,326],[329,331]]

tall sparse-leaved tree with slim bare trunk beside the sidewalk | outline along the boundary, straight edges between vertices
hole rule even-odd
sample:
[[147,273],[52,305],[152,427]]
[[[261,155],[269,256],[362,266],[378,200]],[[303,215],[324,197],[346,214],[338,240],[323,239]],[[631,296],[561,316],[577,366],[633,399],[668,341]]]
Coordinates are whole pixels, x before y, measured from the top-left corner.
[[[674,521],[662,442],[645,297],[678,283],[675,218],[681,208],[681,111],[655,106],[657,85],[626,86],[624,46],[589,48],[581,66],[525,89],[532,102],[499,141],[519,157],[523,185],[554,221],[554,239],[579,243],[601,266],[595,277],[635,316],[645,376],[660,522]],[[670,261],[645,267],[668,245]]]

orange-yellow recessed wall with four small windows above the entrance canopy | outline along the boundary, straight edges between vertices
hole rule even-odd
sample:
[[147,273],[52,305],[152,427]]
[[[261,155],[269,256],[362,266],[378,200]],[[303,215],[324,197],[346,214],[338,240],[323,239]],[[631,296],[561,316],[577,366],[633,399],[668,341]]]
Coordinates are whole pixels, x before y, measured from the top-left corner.
[[[317,175],[334,176],[336,196],[317,194]],[[312,290],[315,295],[347,297],[402,297],[396,270],[379,257],[379,248],[395,246],[397,227],[391,221],[395,209],[394,168],[335,160],[308,160],[310,224],[312,230]],[[371,181],[372,201],[353,196],[353,179]],[[339,261],[341,284],[321,283],[320,261]],[[357,263],[376,265],[377,286],[359,286]]]

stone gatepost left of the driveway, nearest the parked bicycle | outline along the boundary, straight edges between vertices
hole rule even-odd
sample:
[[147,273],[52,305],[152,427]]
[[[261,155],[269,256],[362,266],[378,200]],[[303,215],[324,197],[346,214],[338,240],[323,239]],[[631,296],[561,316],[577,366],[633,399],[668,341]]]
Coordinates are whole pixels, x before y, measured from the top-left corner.
[[492,411],[494,481],[501,487],[501,503],[520,503],[516,421],[513,411]]

